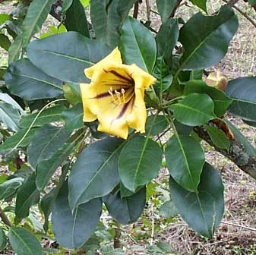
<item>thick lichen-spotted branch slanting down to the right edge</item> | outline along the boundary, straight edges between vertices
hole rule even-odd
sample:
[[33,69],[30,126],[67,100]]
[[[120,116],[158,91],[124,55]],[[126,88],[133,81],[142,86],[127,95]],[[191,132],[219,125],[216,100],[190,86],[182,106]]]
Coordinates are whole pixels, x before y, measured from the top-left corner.
[[229,151],[220,149],[213,144],[209,134],[203,127],[194,127],[194,132],[198,134],[201,139],[205,140],[210,146],[213,146],[216,151],[226,156],[232,162],[235,163],[242,171],[251,175],[252,178],[256,179],[256,158],[248,155],[245,151],[245,147],[237,140],[230,140]]

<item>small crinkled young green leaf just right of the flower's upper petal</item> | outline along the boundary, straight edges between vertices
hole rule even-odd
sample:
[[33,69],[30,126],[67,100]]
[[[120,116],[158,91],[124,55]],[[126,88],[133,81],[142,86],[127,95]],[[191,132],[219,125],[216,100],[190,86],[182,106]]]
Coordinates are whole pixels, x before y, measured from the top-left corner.
[[153,69],[153,76],[156,77],[156,82],[154,83],[154,90],[163,93],[168,90],[172,84],[172,74],[169,71],[169,66],[166,65],[163,57],[156,59],[156,65]]

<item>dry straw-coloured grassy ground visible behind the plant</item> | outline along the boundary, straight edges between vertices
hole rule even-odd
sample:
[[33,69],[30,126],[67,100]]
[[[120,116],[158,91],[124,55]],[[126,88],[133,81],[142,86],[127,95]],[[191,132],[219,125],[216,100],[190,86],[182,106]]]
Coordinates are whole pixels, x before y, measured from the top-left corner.
[[[154,2],[154,1],[151,1]],[[224,2],[220,0],[207,1],[210,13],[214,13]],[[196,12],[191,2],[186,2],[177,12],[185,20]],[[11,2],[0,4],[0,13],[10,10]],[[256,11],[248,8],[248,4],[239,1],[237,6],[256,20]],[[156,6],[151,5],[156,11]],[[141,5],[140,17],[147,17],[145,6]],[[227,77],[235,78],[247,75],[256,75],[256,28],[240,14],[239,31],[229,46],[229,51],[223,61],[215,70],[223,71]],[[160,24],[160,16],[151,13],[153,27],[157,29]],[[53,19],[49,17],[43,30],[47,30]],[[55,23],[56,24],[56,23]],[[0,65],[7,63],[6,52],[0,50]],[[255,144],[256,129],[249,127],[238,119],[231,118],[245,137]],[[158,211],[159,197],[157,194],[149,201],[147,209],[141,221],[122,232],[122,240],[125,241],[126,254],[146,254],[145,243],[156,244],[158,241],[166,241],[172,245],[174,253],[179,255],[210,255],[210,254],[256,254],[256,184],[255,180],[239,170],[232,162],[216,153],[213,148],[204,144],[207,161],[220,170],[225,185],[226,211],[220,228],[216,231],[212,240],[202,238],[191,231],[191,228],[178,216],[174,219],[164,220]],[[4,171],[4,169],[2,170]],[[160,179],[167,178],[168,173],[163,168],[160,176],[156,178],[156,186]],[[161,195],[163,193],[160,192]],[[108,216],[106,216],[107,218]],[[105,220],[105,219],[103,219]],[[168,223],[168,224],[167,224]],[[141,241],[143,240],[143,241]],[[11,254],[11,253],[2,253]]]

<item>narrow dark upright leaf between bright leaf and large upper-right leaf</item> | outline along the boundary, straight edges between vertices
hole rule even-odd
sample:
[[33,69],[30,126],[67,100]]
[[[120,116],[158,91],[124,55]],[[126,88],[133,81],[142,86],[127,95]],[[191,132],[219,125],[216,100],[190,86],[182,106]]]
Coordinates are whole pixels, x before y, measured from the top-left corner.
[[[163,0],[159,0],[163,2]],[[179,38],[178,20],[169,19],[163,23],[156,34],[158,55],[163,55],[166,63],[172,64],[172,51]]]

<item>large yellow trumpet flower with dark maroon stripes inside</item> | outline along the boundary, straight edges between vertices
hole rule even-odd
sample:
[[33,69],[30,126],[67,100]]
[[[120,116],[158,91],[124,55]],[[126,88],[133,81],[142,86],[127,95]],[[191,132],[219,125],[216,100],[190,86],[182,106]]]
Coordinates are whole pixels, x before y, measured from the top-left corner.
[[137,65],[122,64],[119,49],[84,70],[91,80],[81,83],[84,121],[98,119],[98,131],[126,139],[128,128],[145,132],[144,90],[156,79]]

